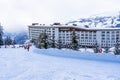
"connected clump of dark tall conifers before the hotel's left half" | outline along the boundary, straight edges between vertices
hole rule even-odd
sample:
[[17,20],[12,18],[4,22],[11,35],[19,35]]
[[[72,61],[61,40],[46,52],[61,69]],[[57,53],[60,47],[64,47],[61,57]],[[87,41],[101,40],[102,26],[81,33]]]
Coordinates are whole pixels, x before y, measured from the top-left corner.
[[70,49],[74,49],[74,50],[78,50],[79,49],[79,45],[78,45],[78,41],[77,41],[77,36],[75,35],[75,32],[73,31],[72,36],[71,36],[71,43],[68,45],[64,45],[62,44],[62,40],[58,40],[56,41],[54,39],[54,35],[52,35],[52,38],[48,38],[49,36],[46,34],[46,32],[43,32],[39,35],[38,40],[31,40],[31,42],[34,42],[35,45],[38,48],[58,48],[61,49],[62,47],[66,47],[66,48],[70,48]]

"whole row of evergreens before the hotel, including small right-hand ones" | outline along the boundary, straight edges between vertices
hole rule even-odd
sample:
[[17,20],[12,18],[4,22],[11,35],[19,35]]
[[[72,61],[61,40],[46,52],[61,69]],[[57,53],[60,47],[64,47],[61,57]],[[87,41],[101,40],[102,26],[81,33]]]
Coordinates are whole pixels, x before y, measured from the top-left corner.
[[[78,50],[80,48],[82,48],[77,41],[77,36],[75,31],[72,32],[71,34],[71,42],[67,45],[62,44],[61,40],[59,39],[58,41],[55,41],[54,36],[52,36],[52,39],[48,38],[49,36],[46,34],[46,32],[43,32],[39,35],[39,38],[37,40],[37,42],[35,42],[34,40],[31,40],[32,42],[35,42],[35,45],[38,48],[58,48],[61,49],[63,46],[65,48],[69,48],[69,49],[73,49],[73,50]],[[114,54],[118,55],[120,54],[120,44],[118,42],[118,39],[116,39],[116,44],[115,44],[115,49],[114,49]],[[86,49],[86,47],[84,46],[84,48]],[[101,48],[99,46],[99,44],[96,43],[92,46],[94,53],[100,53],[101,52]],[[108,47],[108,45],[106,47],[104,47],[104,52],[105,53],[109,53],[110,52],[110,47]]]

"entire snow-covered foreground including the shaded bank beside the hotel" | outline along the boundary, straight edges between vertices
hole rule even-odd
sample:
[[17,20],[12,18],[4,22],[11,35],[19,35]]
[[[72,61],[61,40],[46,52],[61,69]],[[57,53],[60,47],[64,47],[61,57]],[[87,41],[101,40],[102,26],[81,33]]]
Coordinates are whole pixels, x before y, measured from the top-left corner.
[[66,49],[0,49],[0,80],[120,80],[120,56]]

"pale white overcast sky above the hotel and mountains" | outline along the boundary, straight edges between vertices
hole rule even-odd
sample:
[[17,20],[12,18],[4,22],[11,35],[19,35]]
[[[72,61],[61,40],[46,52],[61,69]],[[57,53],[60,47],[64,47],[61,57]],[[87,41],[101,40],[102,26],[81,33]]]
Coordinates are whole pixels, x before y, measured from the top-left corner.
[[34,22],[68,22],[91,15],[120,11],[120,0],[0,0],[4,30],[27,29]]

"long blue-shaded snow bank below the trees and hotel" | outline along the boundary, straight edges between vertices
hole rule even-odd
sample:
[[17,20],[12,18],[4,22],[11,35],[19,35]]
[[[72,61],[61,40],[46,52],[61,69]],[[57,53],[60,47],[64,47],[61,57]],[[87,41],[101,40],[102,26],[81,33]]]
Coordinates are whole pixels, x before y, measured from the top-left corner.
[[73,59],[84,59],[94,61],[107,61],[120,63],[120,56],[111,53],[93,53],[93,52],[80,52],[74,50],[59,50],[59,49],[34,49],[35,53],[45,54],[55,57],[73,58]]

